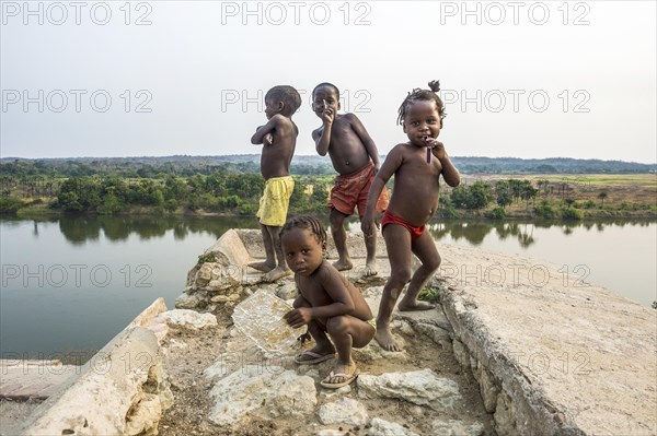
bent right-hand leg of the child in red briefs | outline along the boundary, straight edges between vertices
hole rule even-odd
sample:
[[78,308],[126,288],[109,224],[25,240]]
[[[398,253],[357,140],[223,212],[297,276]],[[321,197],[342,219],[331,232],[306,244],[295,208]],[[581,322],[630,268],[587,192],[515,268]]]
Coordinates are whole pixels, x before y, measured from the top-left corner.
[[400,302],[399,308],[400,310],[433,309],[436,306],[426,302],[419,302],[417,299],[417,294],[419,294],[419,291],[422,291],[424,285],[440,266],[440,255],[438,254],[436,243],[428,231],[425,231],[420,237],[415,239],[412,243],[411,248],[422,262],[422,266],[413,274],[411,283],[408,283],[408,288],[406,290],[406,295],[404,295]]

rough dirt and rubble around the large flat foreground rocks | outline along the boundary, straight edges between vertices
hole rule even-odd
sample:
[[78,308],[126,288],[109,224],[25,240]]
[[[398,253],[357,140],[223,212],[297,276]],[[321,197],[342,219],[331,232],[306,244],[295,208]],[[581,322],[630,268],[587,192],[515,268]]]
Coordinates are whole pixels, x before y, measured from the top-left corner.
[[[374,278],[355,282],[368,297],[370,305],[378,305],[383,280]],[[290,280],[287,279],[277,285],[267,286],[270,292],[277,293],[289,285]],[[450,434],[447,433],[448,427],[457,432],[459,428],[461,432],[468,432],[458,434],[494,434],[492,420],[484,410],[479,386],[472,374],[464,372],[454,360],[447,331],[442,330],[442,334],[433,334],[434,339],[431,339],[416,330],[417,326],[423,330],[422,325],[425,326],[425,332],[427,329],[428,331],[441,330],[436,323],[449,328],[440,307],[407,316],[397,313],[393,332],[404,344],[404,351],[384,352],[372,341],[364,350],[355,352],[354,357],[361,372],[357,381],[338,391],[327,390],[319,385],[319,381],[331,370],[331,361],[318,365],[298,366],[291,358],[298,350],[290,350],[287,357],[267,360],[234,328],[230,318],[231,313],[229,307],[222,306],[217,314],[218,326],[200,330],[172,329],[164,339],[162,345],[164,367],[170,377],[175,402],[173,408],[164,412],[160,422],[161,435],[426,435],[436,434],[436,428],[446,429],[446,433],[441,434]],[[303,347],[311,346],[312,344],[303,345]],[[208,376],[207,369],[212,365],[217,367],[218,362],[221,366],[220,374],[217,375],[215,372],[214,376]],[[244,372],[244,367],[249,364],[262,367],[276,365],[295,372],[299,377],[310,376],[316,389],[316,404],[303,409],[306,412],[301,414],[287,415],[284,412],[278,417],[263,419],[257,417],[263,413],[256,412],[232,424],[214,423],[209,419],[215,408],[212,389],[231,374]],[[376,376],[426,369],[430,369],[440,380],[456,382],[460,396],[451,406],[420,405],[418,403],[422,401],[395,398],[396,393],[383,394],[390,397],[383,398],[380,392],[373,394],[370,392],[367,394],[368,398],[362,398],[361,380],[368,376],[374,376],[369,379],[372,381],[376,380]],[[359,410],[361,408],[367,417],[354,417],[349,414],[344,416],[344,422],[341,423],[334,422],[341,421],[339,417],[336,420],[322,415],[323,406],[326,409],[326,404],[338,403],[338,401],[353,401],[347,403],[348,408]],[[381,421],[390,424],[382,424]],[[385,427],[387,425],[390,427]],[[459,425],[461,427],[458,427]],[[385,428],[393,433],[385,433]]]

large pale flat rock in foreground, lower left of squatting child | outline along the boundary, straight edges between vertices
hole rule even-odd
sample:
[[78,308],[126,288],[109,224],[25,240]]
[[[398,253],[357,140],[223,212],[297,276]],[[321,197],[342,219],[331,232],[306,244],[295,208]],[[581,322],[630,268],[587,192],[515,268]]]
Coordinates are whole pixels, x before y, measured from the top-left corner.
[[303,420],[318,402],[314,380],[279,366],[247,365],[218,381],[208,419],[217,425],[234,424],[246,414],[265,420]]

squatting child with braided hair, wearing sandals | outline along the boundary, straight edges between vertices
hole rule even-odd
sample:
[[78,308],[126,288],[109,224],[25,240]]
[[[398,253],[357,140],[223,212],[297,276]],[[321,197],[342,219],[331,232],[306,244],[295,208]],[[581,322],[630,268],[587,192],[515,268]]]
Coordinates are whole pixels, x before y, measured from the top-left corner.
[[333,358],[337,350],[335,366],[321,385],[330,389],[346,386],[358,376],[351,347],[362,347],[374,337],[372,313],[356,286],[324,259],[326,231],[319,220],[308,215],[290,219],[280,239],[299,290],[295,309],[285,319],[293,328],[308,325],[316,343],[295,362],[316,364]]

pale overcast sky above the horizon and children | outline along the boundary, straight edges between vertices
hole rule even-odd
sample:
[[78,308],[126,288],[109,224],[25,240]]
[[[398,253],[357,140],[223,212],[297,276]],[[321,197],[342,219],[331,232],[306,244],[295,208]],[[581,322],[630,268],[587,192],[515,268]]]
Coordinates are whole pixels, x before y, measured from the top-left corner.
[[439,79],[453,156],[657,162],[655,1],[2,1],[2,157],[260,153],[263,96],[342,91],[388,153]]

